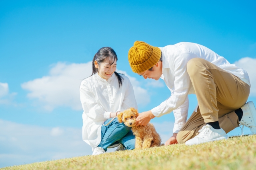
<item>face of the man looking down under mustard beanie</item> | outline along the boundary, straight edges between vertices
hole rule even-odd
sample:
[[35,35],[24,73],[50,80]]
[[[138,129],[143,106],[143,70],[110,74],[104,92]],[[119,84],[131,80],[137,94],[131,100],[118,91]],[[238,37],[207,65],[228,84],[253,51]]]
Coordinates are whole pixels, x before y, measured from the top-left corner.
[[143,76],[145,79],[152,78],[155,80],[159,80],[162,76],[162,61],[158,61],[156,65],[153,66],[152,70],[146,70],[144,72],[138,73],[140,76]]

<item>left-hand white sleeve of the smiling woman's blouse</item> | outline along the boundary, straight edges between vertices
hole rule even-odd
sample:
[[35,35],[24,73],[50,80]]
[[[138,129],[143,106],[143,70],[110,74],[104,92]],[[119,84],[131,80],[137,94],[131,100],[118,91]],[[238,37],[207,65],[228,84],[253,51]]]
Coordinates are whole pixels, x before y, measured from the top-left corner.
[[105,121],[110,118],[110,112],[96,102],[94,94],[85,83],[80,86],[80,100],[84,113],[93,121]]

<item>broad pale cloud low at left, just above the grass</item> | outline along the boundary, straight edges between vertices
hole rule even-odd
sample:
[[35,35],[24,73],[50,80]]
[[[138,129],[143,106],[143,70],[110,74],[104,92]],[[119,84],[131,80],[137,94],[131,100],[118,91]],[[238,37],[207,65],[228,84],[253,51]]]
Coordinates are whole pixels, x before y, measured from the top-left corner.
[[0,129],[0,167],[92,154],[82,140],[82,128],[40,127],[0,119]]

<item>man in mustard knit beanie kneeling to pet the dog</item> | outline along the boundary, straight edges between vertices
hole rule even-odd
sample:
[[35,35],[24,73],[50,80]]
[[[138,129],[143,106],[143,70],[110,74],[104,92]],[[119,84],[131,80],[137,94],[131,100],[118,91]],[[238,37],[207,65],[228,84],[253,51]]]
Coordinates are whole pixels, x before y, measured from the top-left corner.
[[[162,78],[170,98],[140,113],[136,125],[173,111],[173,136],[165,145],[194,145],[227,139],[226,133],[245,125],[256,134],[256,109],[246,103],[250,93],[247,72],[196,43],[153,47],[136,41],[128,52],[132,71],[146,78]],[[188,94],[196,94],[198,107],[187,119]],[[246,104],[245,104],[246,103]]]

